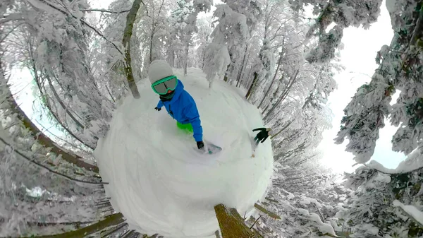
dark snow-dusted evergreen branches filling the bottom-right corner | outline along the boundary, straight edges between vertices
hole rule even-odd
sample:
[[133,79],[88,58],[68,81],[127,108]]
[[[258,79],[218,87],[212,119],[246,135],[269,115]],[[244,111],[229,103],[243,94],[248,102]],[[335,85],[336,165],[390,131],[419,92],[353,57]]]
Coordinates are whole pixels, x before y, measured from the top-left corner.
[[372,161],[348,174],[347,186],[355,191],[348,209],[339,215],[352,228],[352,237],[423,235],[419,219],[419,211],[423,210],[421,161],[422,155],[416,151],[396,170]]

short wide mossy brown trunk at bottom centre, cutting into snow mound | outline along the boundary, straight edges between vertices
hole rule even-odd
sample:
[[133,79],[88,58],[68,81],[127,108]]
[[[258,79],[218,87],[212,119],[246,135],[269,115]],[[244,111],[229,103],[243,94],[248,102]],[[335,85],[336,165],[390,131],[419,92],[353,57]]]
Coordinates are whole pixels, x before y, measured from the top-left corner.
[[216,218],[219,222],[222,238],[258,238],[245,225],[243,218],[235,208],[226,208],[223,204],[214,206]]

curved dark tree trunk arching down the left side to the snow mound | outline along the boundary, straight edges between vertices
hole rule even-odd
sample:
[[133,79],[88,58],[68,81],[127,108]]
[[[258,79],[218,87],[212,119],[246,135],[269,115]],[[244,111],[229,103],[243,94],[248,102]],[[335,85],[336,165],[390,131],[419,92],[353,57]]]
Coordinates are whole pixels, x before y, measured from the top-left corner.
[[34,136],[34,138],[37,139],[39,143],[44,145],[46,148],[51,148],[51,152],[56,153],[56,155],[61,155],[63,160],[66,160],[67,162],[73,163],[78,167],[82,167],[93,172],[99,172],[99,168],[97,166],[82,161],[82,157],[79,157],[78,155],[73,155],[70,152],[62,150],[56,145],[56,143],[51,141],[49,137],[44,135],[42,131],[39,131],[37,126],[32,123],[32,121],[27,117],[25,112],[20,109],[20,107],[16,103],[16,100],[13,98],[11,91],[8,88],[6,90],[8,94],[6,95],[6,98],[10,103],[9,108],[12,110],[13,113],[16,113],[18,115],[18,119],[23,122],[23,126],[25,126],[25,128],[29,129],[32,132],[32,136]]

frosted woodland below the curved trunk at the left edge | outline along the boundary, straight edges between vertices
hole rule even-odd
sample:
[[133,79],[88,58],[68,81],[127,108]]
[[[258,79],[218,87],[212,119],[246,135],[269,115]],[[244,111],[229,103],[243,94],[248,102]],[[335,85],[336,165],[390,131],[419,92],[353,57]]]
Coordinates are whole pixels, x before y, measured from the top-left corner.
[[63,232],[98,220],[101,213],[94,202],[104,197],[102,189],[69,179],[90,181],[94,173],[65,162],[37,141],[25,114],[16,109],[6,76],[0,64],[0,236],[30,236],[34,230]]

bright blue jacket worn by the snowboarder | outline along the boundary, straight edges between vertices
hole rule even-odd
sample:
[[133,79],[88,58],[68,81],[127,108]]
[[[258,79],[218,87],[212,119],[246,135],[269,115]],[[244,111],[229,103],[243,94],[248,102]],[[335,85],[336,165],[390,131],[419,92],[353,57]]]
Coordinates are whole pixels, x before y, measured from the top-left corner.
[[183,89],[183,83],[179,79],[172,99],[165,102],[159,100],[157,107],[161,108],[163,106],[176,121],[182,124],[190,123],[194,131],[195,141],[202,141],[202,126],[197,105],[195,105],[191,95]]

